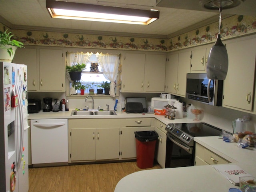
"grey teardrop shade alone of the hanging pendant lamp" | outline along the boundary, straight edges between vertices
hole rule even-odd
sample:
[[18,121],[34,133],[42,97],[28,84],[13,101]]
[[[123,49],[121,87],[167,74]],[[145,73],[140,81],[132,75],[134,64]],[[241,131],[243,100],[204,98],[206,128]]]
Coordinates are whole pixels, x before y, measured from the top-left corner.
[[218,34],[216,43],[212,46],[207,59],[207,78],[225,80],[228,73],[228,52]]

